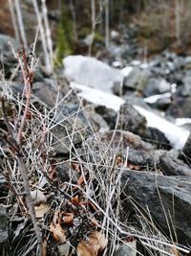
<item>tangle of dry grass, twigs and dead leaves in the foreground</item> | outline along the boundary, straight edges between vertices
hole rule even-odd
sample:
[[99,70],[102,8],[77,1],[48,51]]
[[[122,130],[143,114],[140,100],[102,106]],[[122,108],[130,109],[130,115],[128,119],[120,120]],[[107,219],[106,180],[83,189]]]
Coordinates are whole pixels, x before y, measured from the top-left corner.
[[[72,91],[66,98],[57,100],[52,109],[39,111],[31,98],[35,59],[32,57],[29,63],[25,51],[15,56],[25,86],[19,97],[11,92],[9,83],[3,84],[1,98],[7,129],[2,130],[5,145],[1,146],[1,151],[3,175],[10,186],[6,203],[10,205],[11,222],[22,219],[17,229],[11,224],[14,247],[11,247],[11,254],[5,252],[5,255],[27,256],[37,251],[38,255],[51,255],[53,251],[59,253],[60,246],[67,244],[68,255],[101,252],[101,255],[112,256],[117,244],[131,247],[130,241],[137,241],[152,256],[187,252],[186,248],[169,241],[157,228],[149,210],[144,215],[132,198],[129,199],[137,212],[138,226],[131,222],[129,213],[124,212],[121,177],[123,172],[128,172],[129,149],[122,147],[122,137],[113,147],[117,130],[108,142],[99,138],[88,118],[86,125],[79,129],[79,115],[83,113],[86,117],[82,102],[79,100],[77,111],[71,114],[60,110]],[[8,113],[10,108],[11,114]],[[56,158],[53,148],[55,139],[59,138],[54,137],[53,129],[60,126],[65,128],[66,136],[59,142],[68,147],[68,154]],[[84,136],[87,129],[92,134],[89,139]],[[76,134],[81,138],[80,147],[74,145]],[[70,166],[69,178],[65,181],[56,173],[56,168],[62,164]],[[143,254],[138,252],[138,255]]]

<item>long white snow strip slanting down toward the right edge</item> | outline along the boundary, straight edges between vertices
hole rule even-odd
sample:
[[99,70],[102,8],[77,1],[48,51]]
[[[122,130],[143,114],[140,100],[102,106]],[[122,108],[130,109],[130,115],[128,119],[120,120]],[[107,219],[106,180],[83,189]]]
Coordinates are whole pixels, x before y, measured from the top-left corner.
[[146,118],[148,127],[158,128],[163,132],[175,149],[180,150],[183,148],[190,133],[188,130],[177,127],[141,106],[134,105],[134,107]]

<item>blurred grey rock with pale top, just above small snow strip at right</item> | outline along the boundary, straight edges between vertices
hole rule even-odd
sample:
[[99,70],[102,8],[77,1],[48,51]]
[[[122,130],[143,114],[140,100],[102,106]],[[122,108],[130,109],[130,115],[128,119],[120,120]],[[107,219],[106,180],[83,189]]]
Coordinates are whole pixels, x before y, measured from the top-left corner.
[[145,89],[143,90],[143,94],[145,97],[149,97],[155,94],[165,93],[170,90],[170,83],[165,81],[164,79],[155,79],[151,78],[148,81]]

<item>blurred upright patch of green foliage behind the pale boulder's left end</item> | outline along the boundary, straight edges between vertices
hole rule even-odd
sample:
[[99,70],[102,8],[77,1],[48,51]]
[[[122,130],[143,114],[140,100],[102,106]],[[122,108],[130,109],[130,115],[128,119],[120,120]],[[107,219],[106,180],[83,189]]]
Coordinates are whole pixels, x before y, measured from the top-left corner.
[[56,45],[54,54],[54,65],[62,65],[62,59],[73,54],[73,20],[67,12],[66,7],[62,6],[59,24],[57,27]]

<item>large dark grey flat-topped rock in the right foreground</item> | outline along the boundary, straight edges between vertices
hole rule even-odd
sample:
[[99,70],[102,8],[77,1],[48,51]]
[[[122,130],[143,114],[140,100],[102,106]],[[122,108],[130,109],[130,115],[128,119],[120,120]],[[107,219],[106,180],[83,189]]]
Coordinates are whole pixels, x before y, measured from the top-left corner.
[[149,216],[157,221],[163,231],[169,234],[167,218],[172,233],[174,234],[175,230],[177,234],[178,243],[191,243],[190,176],[178,175],[175,178],[156,173],[125,171],[121,182],[126,197],[130,196],[134,203],[137,201],[138,205],[140,203],[141,206],[147,207]]

